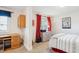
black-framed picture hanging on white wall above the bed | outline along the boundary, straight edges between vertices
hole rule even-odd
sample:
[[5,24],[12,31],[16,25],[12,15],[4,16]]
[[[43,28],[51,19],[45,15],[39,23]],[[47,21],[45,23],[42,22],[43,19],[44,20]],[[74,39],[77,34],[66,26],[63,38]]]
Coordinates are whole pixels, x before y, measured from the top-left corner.
[[71,29],[71,17],[62,18],[62,29]]

